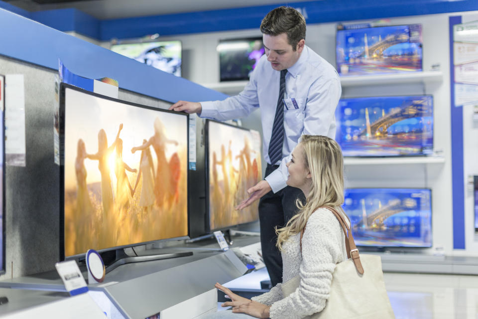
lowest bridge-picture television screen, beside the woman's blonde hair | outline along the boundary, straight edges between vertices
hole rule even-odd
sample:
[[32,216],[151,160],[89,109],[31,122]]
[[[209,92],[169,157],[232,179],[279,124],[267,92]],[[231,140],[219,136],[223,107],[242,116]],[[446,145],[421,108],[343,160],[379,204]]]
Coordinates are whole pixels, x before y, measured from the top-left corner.
[[431,247],[430,189],[351,188],[344,211],[358,246]]

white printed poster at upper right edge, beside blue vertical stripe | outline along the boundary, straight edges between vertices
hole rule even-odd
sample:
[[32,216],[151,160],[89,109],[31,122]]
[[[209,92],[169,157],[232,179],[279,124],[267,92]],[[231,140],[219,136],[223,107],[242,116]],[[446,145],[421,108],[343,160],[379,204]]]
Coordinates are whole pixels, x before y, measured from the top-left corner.
[[478,20],[453,26],[455,106],[478,104]]

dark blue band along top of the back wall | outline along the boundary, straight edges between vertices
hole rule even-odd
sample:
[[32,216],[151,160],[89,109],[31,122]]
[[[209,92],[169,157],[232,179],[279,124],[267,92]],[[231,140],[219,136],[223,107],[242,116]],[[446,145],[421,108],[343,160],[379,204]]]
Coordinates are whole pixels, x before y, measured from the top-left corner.
[[[60,31],[76,31],[102,41],[109,41],[112,38],[142,37],[155,33],[175,35],[258,28],[267,12],[283,4],[98,20],[76,9],[30,13],[0,0],[0,7],[16,11],[26,17],[31,15],[32,19]],[[307,23],[478,10],[477,0],[322,0],[293,2],[290,5],[300,8],[305,13]]]

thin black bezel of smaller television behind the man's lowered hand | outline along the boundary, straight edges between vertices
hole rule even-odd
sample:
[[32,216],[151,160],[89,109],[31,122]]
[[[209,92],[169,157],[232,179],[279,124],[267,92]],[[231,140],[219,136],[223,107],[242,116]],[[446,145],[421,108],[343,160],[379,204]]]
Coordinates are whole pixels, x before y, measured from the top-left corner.
[[[257,219],[255,219],[255,220],[251,220],[251,221],[244,222],[244,223],[239,223],[239,224],[234,224],[234,225],[211,228],[210,191],[209,191],[209,179],[210,179],[209,178],[209,162],[210,162],[210,159],[209,159],[209,123],[211,123],[211,122],[218,123],[218,124],[225,125],[225,126],[230,126],[230,127],[240,129],[240,130],[244,130],[244,131],[248,131],[248,132],[251,131],[249,129],[246,129],[246,128],[243,128],[243,127],[240,127],[240,126],[235,126],[235,125],[232,125],[232,124],[229,124],[229,123],[216,121],[216,120],[211,120],[211,119],[206,119],[206,124],[204,126],[204,132],[205,132],[205,140],[206,140],[206,143],[205,143],[205,145],[206,145],[206,150],[205,150],[205,158],[206,158],[205,159],[205,163],[206,163],[205,164],[205,166],[206,166],[206,169],[205,169],[205,174],[206,174],[206,231],[208,233],[213,233],[214,231],[217,231],[217,230],[227,230],[227,229],[231,229],[231,228],[241,226],[241,225],[252,224],[252,223],[257,222],[257,220],[259,220],[259,215],[257,214]],[[261,161],[262,161],[262,152],[260,154],[260,158],[261,158]],[[261,167],[262,167],[262,163],[261,163]],[[259,173],[261,173],[261,172],[259,172]]]

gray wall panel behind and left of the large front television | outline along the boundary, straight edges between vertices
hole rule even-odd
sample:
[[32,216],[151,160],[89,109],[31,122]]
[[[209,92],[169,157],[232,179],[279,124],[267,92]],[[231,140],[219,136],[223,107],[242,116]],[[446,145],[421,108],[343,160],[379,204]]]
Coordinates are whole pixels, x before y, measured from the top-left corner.
[[[26,167],[6,167],[6,273],[1,280],[54,269],[60,217],[59,166],[53,158],[56,71],[0,56],[0,74],[24,75],[26,126]],[[170,105],[124,90],[119,98],[152,107]]]

